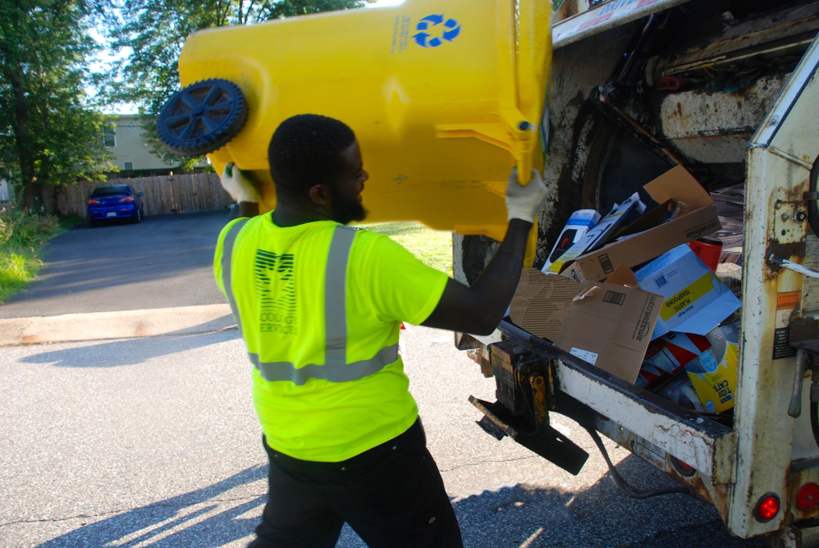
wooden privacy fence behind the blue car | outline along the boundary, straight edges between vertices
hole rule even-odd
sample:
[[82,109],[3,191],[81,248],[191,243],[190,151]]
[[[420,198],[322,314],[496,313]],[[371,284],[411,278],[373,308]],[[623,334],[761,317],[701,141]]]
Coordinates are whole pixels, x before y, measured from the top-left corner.
[[133,191],[144,192],[143,213],[146,216],[215,211],[233,204],[216,173],[190,173],[108,182],[82,181],[74,186],[62,186],[57,189],[55,209],[64,215],[73,213],[85,217],[88,214],[86,200],[94,188],[112,184],[130,185]]

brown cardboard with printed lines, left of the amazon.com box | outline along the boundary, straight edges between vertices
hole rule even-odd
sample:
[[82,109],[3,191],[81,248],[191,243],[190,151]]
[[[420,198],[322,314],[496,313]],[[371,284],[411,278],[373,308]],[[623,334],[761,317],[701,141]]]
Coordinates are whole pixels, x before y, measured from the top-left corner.
[[526,268],[509,305],[509,316],[532,335],[554,340],[579,287],[577,281],[566,276]]

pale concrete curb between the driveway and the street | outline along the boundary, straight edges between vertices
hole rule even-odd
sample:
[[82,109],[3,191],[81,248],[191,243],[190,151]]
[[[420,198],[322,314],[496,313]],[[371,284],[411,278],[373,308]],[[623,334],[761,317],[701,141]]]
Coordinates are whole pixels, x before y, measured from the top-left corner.
[[228,304],[0,320],[0,346],[192,335],[235,326]]

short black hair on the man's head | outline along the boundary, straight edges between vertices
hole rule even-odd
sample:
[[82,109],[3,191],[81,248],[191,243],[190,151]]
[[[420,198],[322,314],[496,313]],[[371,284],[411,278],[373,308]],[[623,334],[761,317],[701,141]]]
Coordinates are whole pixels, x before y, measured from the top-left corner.
[[353,130],[328,116],[296,115],[284,120],[267,149],[276,192],[301,197],[317,183],[333,184],[344,168],[342,152],[353,142]]

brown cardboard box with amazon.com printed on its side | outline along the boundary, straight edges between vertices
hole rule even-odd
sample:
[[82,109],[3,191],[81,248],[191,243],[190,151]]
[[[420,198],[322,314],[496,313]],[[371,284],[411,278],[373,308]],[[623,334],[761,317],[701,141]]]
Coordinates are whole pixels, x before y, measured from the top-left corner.
[[662,302],[621,265],[606,283],[581,282],[554,344],[633,383]]

